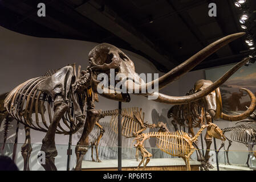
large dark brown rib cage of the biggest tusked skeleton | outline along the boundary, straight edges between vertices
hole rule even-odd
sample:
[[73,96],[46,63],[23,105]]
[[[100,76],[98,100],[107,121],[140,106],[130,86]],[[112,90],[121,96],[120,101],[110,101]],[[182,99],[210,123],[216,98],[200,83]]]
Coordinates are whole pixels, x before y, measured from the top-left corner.
[[[37,88],[40,82],[43,82],[48,76],[50,77],[53,74],[54,71],[46,73],[47,76],[27,80],[8,94],[5,99],[5,107],[11,117],[31,129],[47,132],[54,114],[53,102],[50,96],[39,91]],[[71,98],[69,99],[69,103],[71,103]],[[70,123],[72,123],[72,128]],[[64,127],[62,126],[63,124]],[[76,120],[71,116],[70,105],[70,109],[66,111],[66,114],[64,114],[59,122],[56,134],[70,134],[75,133],[77,130]]]

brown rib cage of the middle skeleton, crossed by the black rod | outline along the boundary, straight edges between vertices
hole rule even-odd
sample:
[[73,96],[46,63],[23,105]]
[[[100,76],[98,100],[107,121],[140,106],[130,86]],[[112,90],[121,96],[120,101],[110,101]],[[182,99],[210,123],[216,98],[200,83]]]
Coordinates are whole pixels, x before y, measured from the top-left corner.
[[[145,113],[142,113],[142,109],[139,109],[138,107],[132,107],[132,108],[127,108],[127,109],[122,109],[121,110],[121,133],[124,137],[133,137],[133,132],[137,133],[137,131],[140,131],[143,129],[143,126],[141,126],[141,123],[138,121],[136,118],[135,114],[139,114],[142,120],[142,124],[145,127],[151,127],[154,128],[156,127],[154,124],[148,124],[144,123],[144,116]],[[111,115],[110,119],[110,126],[111,129],[115,132],[118,133],[118,109],[116,110],[109,110],[109,111],[103,111],[102,116],[108,116]]]

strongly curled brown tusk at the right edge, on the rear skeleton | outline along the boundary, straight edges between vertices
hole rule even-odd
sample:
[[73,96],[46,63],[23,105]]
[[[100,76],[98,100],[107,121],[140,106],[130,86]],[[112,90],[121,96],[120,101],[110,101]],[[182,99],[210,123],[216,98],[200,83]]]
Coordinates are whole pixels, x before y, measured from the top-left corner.
[[240,121],[242,119],[245,119],[247,117],[250,116],[251,113],[253,113],[253,111],[256,108],[256,97],[254,96],[254,94],[249,90],[249,89],[245,89],[245,88],[240,88],[242,90],[245,90],[250,98],[251,98],[251,105],[250,107],[242,114],[238,114],[238,115],[228,115],[225,113],[221,113],[221,118],[228,120],[228,121]]

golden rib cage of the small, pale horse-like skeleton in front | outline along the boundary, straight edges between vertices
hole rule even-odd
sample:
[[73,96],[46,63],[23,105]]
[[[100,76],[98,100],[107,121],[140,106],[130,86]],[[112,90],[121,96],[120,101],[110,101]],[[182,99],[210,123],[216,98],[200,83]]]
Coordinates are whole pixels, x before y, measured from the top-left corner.
[[[151,132],[147,137],[155,137],[156,146],[161,151],[173,156],[185,156],[191,151],[188,134],[183,131],[176,131],[170,133]],[[144,135],[140,134],[136,139],[143,139]]]

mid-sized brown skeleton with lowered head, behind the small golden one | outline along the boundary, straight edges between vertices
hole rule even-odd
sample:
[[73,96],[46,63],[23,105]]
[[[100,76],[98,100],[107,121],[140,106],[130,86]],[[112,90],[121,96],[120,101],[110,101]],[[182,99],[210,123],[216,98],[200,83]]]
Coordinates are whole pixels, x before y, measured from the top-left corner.
[[[107,111],[102,111],[100,118],[111,116],[109,125],[113,132],[118,133],[118,115],[119,115],[118,109],[107,110]],[[122,118],[121,119],[121,135],[126,138],[136,137],[137,135],[141,134],[143,131],[147,129],[155,129],[157,127],[160,127],[162,130],[168,130],[166,125],[162,122],[157,123],[157,125],[154,123],[150,124],[150,123],[144,122],[145,113],[142,112],[142,109],[141,108],[139,109],[138,107],[129,107],[129,108],[121,109],[121,118]],[[105,130],[99,123],[96,123],[96,126],[99,127],[100,134],[98,138],[95,140],[95,142],[91,143],[92,161],[95,161],[93,156],[93,148],[95,147],[96,161],[100,162],[97,148],[98,148],[100,139],[103,137]],[[138,157],[139,157],[139,154],[138,154],[138,151],[136,151],[137,160],[139,160]]]

